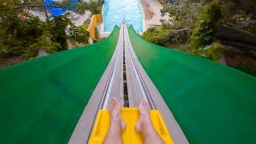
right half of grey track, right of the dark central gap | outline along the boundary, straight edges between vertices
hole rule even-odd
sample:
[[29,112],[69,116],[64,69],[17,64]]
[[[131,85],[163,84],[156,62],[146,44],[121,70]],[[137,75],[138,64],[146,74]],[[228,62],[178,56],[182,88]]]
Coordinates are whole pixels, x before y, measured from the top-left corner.
[[141,63],[138,61],[134,48],[130,42],[130,35],[126,25],[123,25],[125,34],[125,48],[126,48],[126,70],[129,105],[138,106],[142,98],[145,98],[149,103],[151,109],[157,109],[161,112],[162,118],[166,122],[166,126],[174,143],[188,143],[185,134],[176,122],[174,115],[171,113],[166,102],[163,100],[161,94],[158,92],[156,86],[146,74]]

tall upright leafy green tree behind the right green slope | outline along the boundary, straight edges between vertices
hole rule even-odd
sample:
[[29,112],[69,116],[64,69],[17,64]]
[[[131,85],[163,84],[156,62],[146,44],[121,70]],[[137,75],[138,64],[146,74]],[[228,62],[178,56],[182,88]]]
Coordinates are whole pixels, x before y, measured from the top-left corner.
[[191,48],[198,49],[213,42],[216,26],[221,17],[222,11],[217,2],[211,2],[206,6],[192,32],[190,38]]

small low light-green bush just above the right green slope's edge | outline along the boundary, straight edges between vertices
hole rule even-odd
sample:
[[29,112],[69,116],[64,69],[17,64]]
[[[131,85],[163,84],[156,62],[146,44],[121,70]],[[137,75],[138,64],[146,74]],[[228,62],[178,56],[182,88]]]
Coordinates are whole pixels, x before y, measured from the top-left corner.
[[205,48],[194,49],[193,53],[204,58],[218,61],[224,50],[226,50],[226,46],[223,46],[218,42],[214,42],[213,44],[211,44],[210,46],[206,46]]

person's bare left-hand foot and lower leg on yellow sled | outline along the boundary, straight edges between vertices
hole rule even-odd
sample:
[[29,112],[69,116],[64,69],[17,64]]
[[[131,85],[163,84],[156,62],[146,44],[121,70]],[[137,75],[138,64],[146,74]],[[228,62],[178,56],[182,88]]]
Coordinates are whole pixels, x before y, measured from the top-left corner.
[[110,128],[106,134],[103,144],[122,144],[122,131],[126,129],[126,123],[122,120],[121,106],[117,98],[112,98],[109,106]]

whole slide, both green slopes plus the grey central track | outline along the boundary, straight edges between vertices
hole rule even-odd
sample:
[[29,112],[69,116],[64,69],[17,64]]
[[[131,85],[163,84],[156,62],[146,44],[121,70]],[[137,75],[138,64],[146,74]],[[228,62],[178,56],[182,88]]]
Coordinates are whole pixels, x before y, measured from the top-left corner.
[[[126,72],[126,73],[124,73]],[[109,38],[0,71],[3,143],[86,143],[98,109],[117,96],[162,113],[175,143],[252,143],[256,78],[142,39]]]

